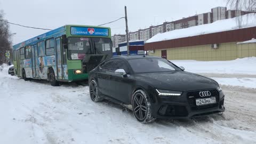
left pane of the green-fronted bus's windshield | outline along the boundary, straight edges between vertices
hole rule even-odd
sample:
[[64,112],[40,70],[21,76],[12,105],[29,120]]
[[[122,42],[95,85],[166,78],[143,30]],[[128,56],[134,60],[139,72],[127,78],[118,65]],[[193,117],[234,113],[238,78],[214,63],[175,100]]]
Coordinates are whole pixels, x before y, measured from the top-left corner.
[[68,59],[82,60],[85,54],[93,54],[91,50],[90,38],[69,37],[68,38]]

